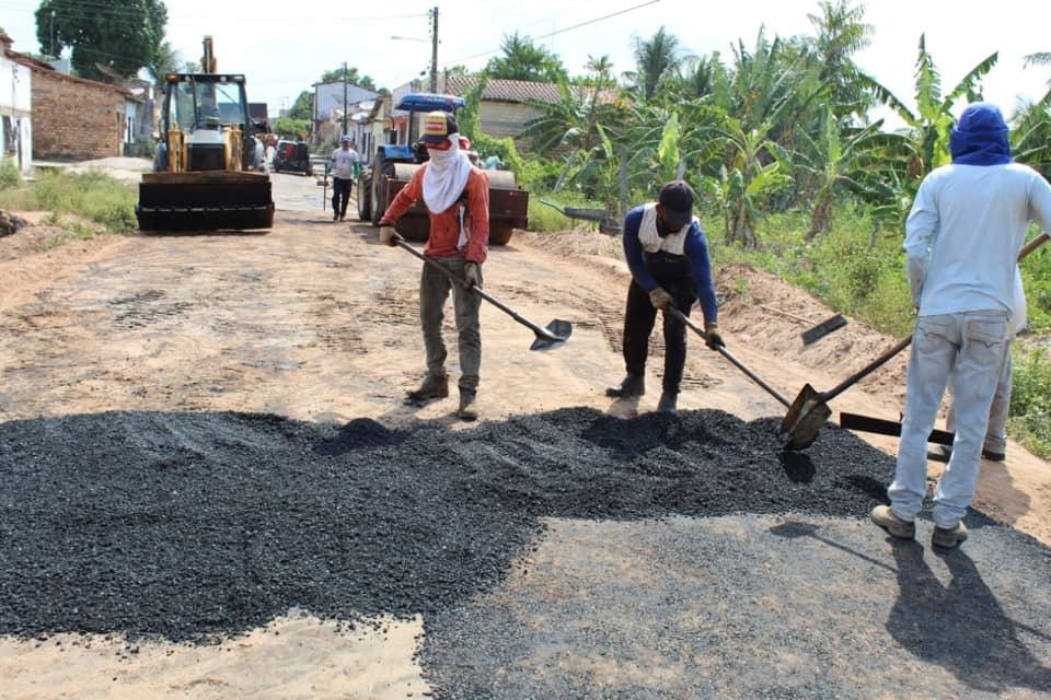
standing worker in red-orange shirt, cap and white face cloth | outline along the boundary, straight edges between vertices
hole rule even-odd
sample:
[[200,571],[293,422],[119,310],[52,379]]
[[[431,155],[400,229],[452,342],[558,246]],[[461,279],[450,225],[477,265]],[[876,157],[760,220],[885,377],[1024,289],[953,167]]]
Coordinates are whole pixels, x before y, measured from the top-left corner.
[[452,291],[458,346],[460,350],[460,407],[462,420],[475,420],[475,396],[482,365],[482,330],[478,307],[482,298],[482,264],[489,242],[489,180],[471,164],[463,152],[466,140],[460,138],[457,119],[446,112],[430,112],[424,118],[424,144],[429,160],[397,194],[380,220],[380,242],[397,245],[394,222],[419,199],[427,205],[430,235],[424,255],[464,281],[453,284],[429,264],[424,264],[419,280],[419,316],[427,350],[427,376],[419,388],[409,392],[413,401],[449,396],[446,372],[446,343],[441,322],[446,300]]

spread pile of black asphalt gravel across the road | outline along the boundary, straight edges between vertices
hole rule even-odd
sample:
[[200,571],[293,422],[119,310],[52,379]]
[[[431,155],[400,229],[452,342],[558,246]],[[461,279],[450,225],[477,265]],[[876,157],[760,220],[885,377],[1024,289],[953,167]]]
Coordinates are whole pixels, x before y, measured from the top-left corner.
[[291,607],[434,615],[498,584],[541,516],[862,517],[892,460],[715,410],[563,409],[465,431],[111,412],[0,425],[0,633],[208,642]]

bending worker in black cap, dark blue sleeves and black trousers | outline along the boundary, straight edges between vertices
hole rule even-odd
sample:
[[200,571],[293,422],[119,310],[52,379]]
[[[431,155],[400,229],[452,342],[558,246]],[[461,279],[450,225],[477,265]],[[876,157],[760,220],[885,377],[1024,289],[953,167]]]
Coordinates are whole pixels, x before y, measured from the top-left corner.
[[[657,312],[673,304],[690,315],[701,300],[706,343],[724,346],[708,245],[693,217],[693,189],[682,180],[660,188],[656,203],[636,207],[624,218],[624,257],[632,271],[624,311],[624,363],[627,375],[607,396],[624,398],[646,393],[646,355]],[[657,410],[678,410],[679,385],[686,363],[686,327],[665,314],[665,377]]]

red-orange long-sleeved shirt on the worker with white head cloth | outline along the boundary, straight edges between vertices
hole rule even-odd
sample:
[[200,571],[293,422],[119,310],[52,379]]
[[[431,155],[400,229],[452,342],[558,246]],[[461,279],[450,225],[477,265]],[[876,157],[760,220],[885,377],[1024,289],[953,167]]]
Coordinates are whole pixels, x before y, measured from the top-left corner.
[[[408,211],[414,202],[424,196],[424,171],[427,165],[413,173],[412,179],[397,192],[394,201],[383,212],[381,226],[393,225],[399,217]],[[464,226],[471,235],[463,250],[457,249],[460,241],[460,202],[454,202],[441,213],[428,211],[430,215],[430,235],[424,255],[432,258],[466,258],[475,262],[485,262],[489,243],[489,178],[477,167],[471,168],[464,187],[466,210]],[[462,199],[462,198],[461,198]]]

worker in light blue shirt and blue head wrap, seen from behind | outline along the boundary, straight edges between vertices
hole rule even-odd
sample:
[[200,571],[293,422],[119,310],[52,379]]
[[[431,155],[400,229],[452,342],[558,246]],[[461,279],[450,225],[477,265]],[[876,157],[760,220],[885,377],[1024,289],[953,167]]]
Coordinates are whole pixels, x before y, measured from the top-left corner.
[[1030,221],[1051,230],[1051,185],[1014,163],[1000,109],[975,103],[949,136],[952,162],[921,183],[905,222],[905,259],[917,308],[905,413],[890,505],[873,522],[915,537],[926,493],[927,435],[947,384],[956,439],[934,491],[935,547],[967,539],[962,523],[978,485],[979,454],[1004,369],[1016,257]]

